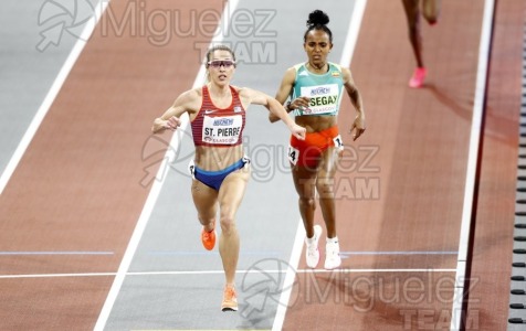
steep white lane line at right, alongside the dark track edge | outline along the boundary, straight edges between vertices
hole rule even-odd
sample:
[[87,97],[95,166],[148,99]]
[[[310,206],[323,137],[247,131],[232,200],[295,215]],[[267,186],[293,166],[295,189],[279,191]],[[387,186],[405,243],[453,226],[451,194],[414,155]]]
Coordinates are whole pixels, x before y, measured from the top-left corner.
[[464,205],[462,210],[462,223],[459,241],[459,259],[456,265],[455,291],[451,308],[450,330],[460,330],[463,318],[462,306],[464,302],[464,280],[467,267],[467,250],[470,244],[471,220],[473,211],[473,195],[475,193],[475,177],[481,140],[482,116],[484,113],[484,98],[486,93],[487,66],[492,38],[493,12],[495,1],[484,2],[484,17],[482,22],[481,44],[478,49],[478,67],[476,70],[475,97],[473,103],[473,118],[471,122],[470,149],[467,157],[467,170],[464,188]]

